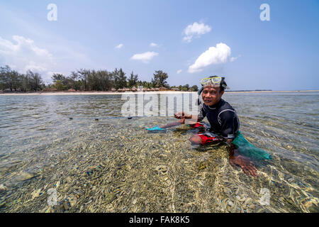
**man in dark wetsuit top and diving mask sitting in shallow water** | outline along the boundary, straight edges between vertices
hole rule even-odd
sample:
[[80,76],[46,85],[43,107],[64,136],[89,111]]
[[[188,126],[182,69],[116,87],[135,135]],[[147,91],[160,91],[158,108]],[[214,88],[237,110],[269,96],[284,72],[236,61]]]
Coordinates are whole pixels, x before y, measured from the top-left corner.
[[247,157],[240,155],[240,151],[232,143],[235,134],[239,130],[240,122],[235,109],[222,99],[224,90],[227,87],[225,78],[217,76],[204,78],[201,80],[201,85],[203,86],[200,90],[203,104],[199,106],[198,116],[182,112],[174,114],[174,117],[181,119],[179,123],[185,123],[185,119],[194,119],[197,122],[196,126],[204,127],[200,122],[206,116],[211,128],[208,128],[204,133],[197,133],[191,136],[189,138],[191,143],[196,145],[212,143],[216,140],[214,133],[220,134],[225,143],[230,145],[230,164],[233,166],[239,165],[247,175],[257,177],[256,167]]

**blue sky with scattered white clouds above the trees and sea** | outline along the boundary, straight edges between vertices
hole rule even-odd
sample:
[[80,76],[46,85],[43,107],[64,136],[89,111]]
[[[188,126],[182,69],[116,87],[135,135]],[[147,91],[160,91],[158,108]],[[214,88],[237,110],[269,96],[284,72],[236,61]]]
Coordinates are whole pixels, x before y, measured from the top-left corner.
[[[260,20],[264,3],[270,21]],[[48,4],[57,21],[47,20]],[[53,72],[122,67],[147,81],[163,70],[170,85],[218,74],[232,90],[319,89],[318,28],[316,0],[2,0],[0,65],[45,82]]]

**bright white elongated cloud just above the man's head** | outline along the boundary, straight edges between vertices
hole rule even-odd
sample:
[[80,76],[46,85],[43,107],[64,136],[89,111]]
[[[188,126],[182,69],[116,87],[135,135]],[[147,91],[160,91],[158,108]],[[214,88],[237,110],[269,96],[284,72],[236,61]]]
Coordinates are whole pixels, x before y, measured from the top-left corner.
[[218,43],[216,47],[210,47],[208,50],[203,52],[195,61],[195,63],[189,66],[188,72],[201,72],[204,68],[209,65],[216,65],[228,62],[230,57],[230,47],[225,43]]

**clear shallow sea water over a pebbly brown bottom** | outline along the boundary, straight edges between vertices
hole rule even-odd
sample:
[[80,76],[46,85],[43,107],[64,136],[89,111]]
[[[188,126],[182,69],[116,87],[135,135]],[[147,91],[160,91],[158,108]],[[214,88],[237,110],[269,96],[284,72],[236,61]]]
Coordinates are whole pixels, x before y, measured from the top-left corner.
[[0,96],[0,212],[318,212],[319,93],[223,99],[273,156],[257,178],[186,125],[145,130],[171,116],[121,118],[120,95]]

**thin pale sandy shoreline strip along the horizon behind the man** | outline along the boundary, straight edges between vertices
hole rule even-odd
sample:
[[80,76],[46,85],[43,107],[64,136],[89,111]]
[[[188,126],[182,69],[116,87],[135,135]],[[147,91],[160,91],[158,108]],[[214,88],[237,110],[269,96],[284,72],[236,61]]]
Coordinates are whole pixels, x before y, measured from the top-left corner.
[[[285,93],[285,92],[319,92],[319,90],[296,90],[296,91],[226,91],[225,94],[238,93]],[[158,92],[5,92],[0,95],[87,95],[87,94],[186,94],[192,92],[182,91],[158,91]],[[197,92],[193,92],[197,93]]]

